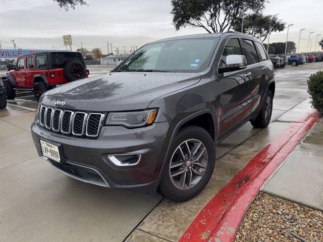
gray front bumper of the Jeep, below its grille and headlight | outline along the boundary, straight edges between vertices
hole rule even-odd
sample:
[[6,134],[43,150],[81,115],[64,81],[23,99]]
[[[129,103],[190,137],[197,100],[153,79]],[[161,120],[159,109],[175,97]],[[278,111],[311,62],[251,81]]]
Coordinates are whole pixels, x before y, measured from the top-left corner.
[[[65,136],[33,123],[31,133],[42,158],[39,139],[61,145],[65,163],[46,160],[67,175],[99,186],[154,193],[166,154],[168,129],[168,122],[139,129],[103,126],[98,139],[89,139]],[[117,166],[108,158],[130,153],[141,154],[138,164]]]

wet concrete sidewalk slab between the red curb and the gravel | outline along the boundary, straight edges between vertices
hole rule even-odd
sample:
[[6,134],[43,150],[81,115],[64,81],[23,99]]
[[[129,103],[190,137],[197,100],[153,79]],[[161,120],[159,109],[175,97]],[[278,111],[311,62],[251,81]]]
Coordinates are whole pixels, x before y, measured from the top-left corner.
[[262,192],[323,211],[323,118],[267,181]]

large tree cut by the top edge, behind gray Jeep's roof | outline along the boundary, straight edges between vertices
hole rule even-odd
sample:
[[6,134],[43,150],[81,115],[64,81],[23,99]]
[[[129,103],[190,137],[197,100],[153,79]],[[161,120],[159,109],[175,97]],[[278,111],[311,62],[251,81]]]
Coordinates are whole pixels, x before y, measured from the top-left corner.
[[176,30],[194,26],[208,33],[229,30],[242,10],[260,12],[266,0],[172,0],[173,24]]

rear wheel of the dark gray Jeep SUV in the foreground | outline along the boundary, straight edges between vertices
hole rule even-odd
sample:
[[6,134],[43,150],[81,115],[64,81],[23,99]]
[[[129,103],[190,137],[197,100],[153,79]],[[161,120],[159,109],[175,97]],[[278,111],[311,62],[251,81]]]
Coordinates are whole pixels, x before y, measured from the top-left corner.
[[[269,101],[270,103],[268,103]],[[250,123],[255,128],[266,128],[271,123],[273,112],[273,93],[268,90],[258,116]]]

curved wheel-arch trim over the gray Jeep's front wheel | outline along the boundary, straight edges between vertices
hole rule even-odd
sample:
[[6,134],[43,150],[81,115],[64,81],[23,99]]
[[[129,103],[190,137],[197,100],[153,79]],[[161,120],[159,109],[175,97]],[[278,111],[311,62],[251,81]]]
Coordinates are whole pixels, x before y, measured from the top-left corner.
[[[197,111],[197,112],[195,112],[193,114],[190,114],[190,115],[186,116],[179,123],[177,123],[175,128],[171,130],[170,139],[164,141],[164,145],[167,144],[167,143],[168,143],[168,145],[167,145],[167,150],[166,150],[165,156],[164,156],[163,161],[162,161],[163,163],[161,164],[161,169],[159,171],[158,181],[157,181],[157,184],[156,184],[157,187],[159,186],[161,175],[164,172],[166,161],[167,161],[167,159],[168,159],[168,157],[170,155],[169,152],[170,152],[171,144],[174,141],[174,138],[175,138],[177,132],[180,130],[180,128],[185,123],[189,122],[189,120],[192,120],[193,118],[195,118],[197,116],[200,116],[200,115],[203,115],[203,114],[210,114],[211,115],[213,126],[214,126],[214,131],[213,131],[214,134],[213,135],[215,137],[217,126],[216,126],[216,123],[214,123],[214,115],[213,115],[213,113],[212,113],[212,111],[210,109],[203,109],[203,110]],[[171,126],[170,126],[170,128],[171,128]],[[156,187],[156,189],[157,189],[157,187]]]

